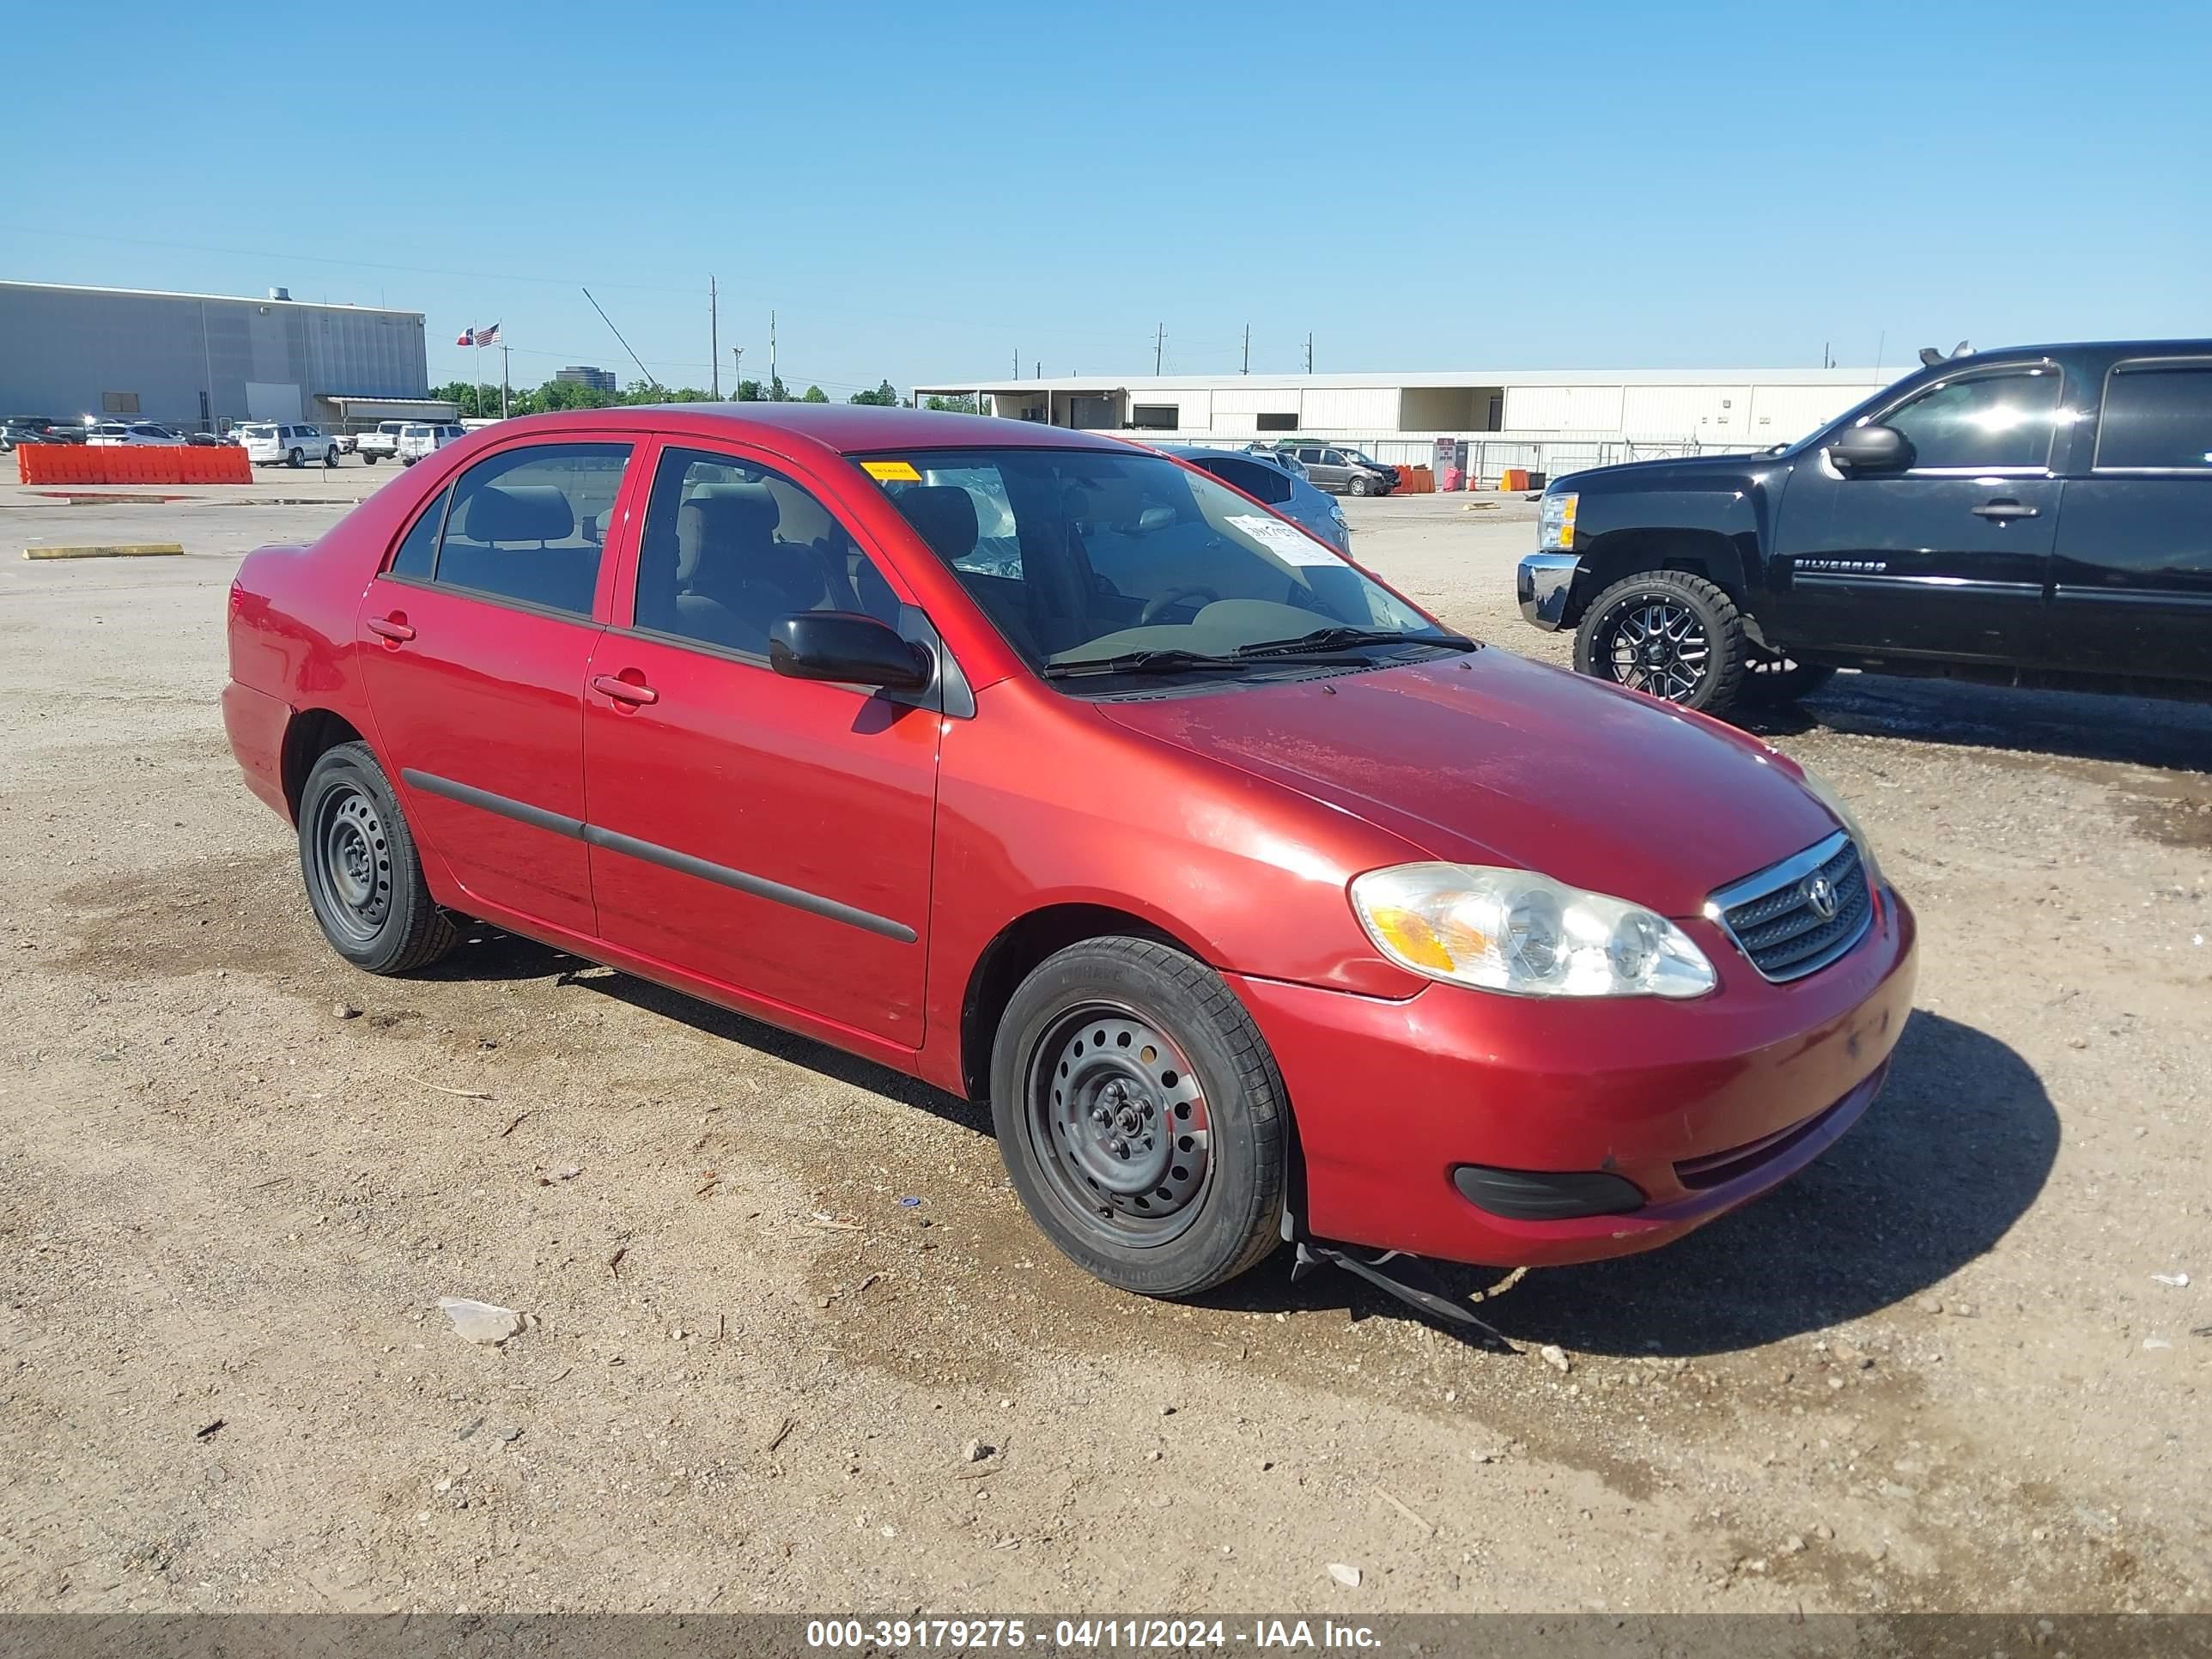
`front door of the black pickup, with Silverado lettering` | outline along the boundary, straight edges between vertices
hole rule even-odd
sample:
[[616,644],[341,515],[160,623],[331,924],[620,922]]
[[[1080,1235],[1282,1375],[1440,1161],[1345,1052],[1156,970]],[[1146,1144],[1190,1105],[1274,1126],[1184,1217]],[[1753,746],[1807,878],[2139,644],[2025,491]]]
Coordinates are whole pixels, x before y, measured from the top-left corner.
[[2059,480],[2064,374],[2053,363],[1964,369],[1871,416],[1909,467],[1845,476],[1796,462],[1774,526],[1763,606],[1781,646],[1869,657],[2039,664]]

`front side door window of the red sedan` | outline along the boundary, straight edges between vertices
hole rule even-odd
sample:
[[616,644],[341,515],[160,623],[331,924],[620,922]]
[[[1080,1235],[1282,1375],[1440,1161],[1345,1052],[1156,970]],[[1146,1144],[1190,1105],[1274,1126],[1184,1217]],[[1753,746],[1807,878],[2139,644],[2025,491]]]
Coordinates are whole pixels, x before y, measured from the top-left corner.
[[863,611],[898,622],[898,595],[812,491],[779,471],[706,449],[666,449],[637,549],[635,626],[768,657],[768,630],[796,611]]

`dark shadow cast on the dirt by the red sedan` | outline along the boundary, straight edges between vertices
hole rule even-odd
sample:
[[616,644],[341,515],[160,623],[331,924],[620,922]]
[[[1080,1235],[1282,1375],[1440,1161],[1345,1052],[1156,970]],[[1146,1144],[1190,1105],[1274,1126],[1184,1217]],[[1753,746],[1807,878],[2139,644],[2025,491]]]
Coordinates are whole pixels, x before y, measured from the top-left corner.
[[[989,1106],[491,927],[471,927],[422,978],[560,978],[991,1135]],[[1455,1301],[1482,1296],[1473,1312],[1515,1343],[1621,1356],[1761,1347],[1920,1296],[1989,1252],[2042,1192],[2057,1148],[2057,1113],[2026,1060],[1969,1024],[1913,1013],[1865,1119],[1763,1199],[1639,1256],[1542,1267],[1513,1283],[1491,1267],[1429,1270]],[[1199,1303],[1425,1318],[1334,1267],[1292,1285],[1290,1263],[1276,1252]]]

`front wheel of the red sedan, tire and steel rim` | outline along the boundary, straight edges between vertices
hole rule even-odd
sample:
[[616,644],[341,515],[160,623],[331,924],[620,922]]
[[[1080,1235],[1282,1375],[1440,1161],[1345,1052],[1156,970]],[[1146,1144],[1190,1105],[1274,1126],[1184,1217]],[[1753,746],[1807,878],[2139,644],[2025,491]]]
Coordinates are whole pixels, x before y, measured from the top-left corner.
[[1281,1243],[1283,1075],[1221,975],[1166,945],[1093,938],[1022,980],[991,1121],[1031,1219],[1108,1285],[1197,1296]]

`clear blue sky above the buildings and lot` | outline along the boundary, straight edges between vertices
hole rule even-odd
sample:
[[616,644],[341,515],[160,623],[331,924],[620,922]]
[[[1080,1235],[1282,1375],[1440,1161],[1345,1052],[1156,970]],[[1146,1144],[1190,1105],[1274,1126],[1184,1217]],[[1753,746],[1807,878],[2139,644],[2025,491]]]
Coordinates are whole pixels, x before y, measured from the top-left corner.
[[[281,20],[281,22],[279,22]],[[1905,365],[2212,334],[2205,7],[15,7],[0,276],[518,383]],[[113,137],[108,137],[113,135]],[[303,170],[285,177],[283,159]]]

